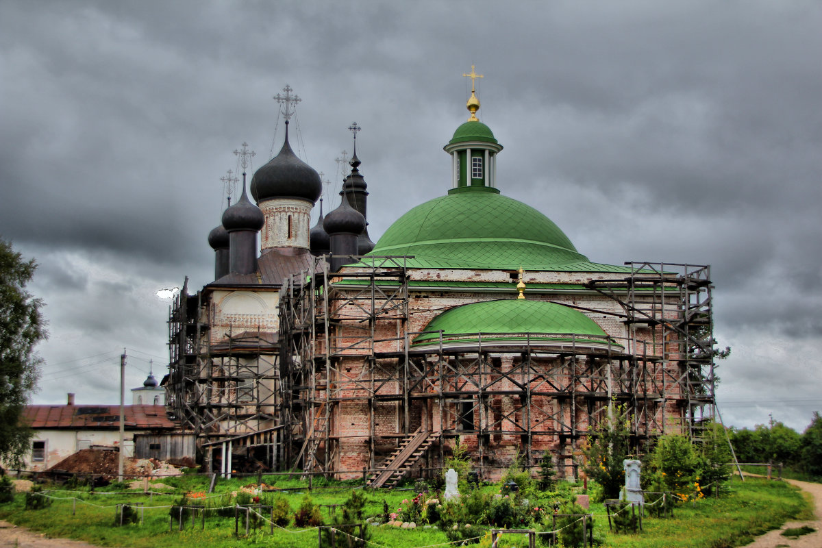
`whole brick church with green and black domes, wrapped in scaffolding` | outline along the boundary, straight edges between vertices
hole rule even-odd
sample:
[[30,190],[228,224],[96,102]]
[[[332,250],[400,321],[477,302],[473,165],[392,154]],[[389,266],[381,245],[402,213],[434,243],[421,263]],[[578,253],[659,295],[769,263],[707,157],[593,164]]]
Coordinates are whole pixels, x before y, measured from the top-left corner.
[[339,206],[313,228],[321,180],[288,125],[252,177],[256,205],[243,173],[209,236],[215,281],[184,287],[169,321],[167,405],[209,470],[392,486],[459,443],[484,477],[544,455],[575,477],[608,417],[630,420],[636,444],[699,436],[713,417],[709,267],[593,262],[505,196],[503,147],[465,76],[443,196],[398,212],[376,244],[356,124]]

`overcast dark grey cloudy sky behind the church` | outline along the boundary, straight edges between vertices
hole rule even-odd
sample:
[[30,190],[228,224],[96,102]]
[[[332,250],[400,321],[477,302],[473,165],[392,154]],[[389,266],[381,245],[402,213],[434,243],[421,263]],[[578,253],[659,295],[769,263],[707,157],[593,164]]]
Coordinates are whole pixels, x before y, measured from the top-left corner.
[[[0,234],[40,264],[39,403],[118,399],[167,363],[161,288],[210,281],[206,242],[246,141],[331,181],[351,150],[376,239],[441,196],[479,115],[503,193],[592,260],[712,265],[727,423],[822,410],[818,2],[0,2]],[[253,172],[250,170],[251,172]]]

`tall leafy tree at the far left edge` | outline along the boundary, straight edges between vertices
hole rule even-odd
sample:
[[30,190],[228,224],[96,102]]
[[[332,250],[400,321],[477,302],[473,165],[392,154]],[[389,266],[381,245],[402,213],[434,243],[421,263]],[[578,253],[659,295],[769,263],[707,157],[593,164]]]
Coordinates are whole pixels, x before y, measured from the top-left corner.
[[0,239],[0,460],[12,466],[29,451],[33,433],[21,416],[39,378],[34,347],[46,338],[43,302],[25,290],[36,268]]

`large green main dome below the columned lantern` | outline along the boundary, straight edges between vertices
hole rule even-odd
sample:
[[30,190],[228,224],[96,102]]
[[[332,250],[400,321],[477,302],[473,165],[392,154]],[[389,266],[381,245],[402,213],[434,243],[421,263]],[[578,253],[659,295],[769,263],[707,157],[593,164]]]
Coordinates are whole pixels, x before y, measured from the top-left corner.
[[551,219],[489,187],[452,188],[418,205],[368,255],[414,256],[412,268],[547,270],[588,261]]

